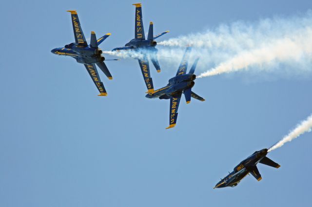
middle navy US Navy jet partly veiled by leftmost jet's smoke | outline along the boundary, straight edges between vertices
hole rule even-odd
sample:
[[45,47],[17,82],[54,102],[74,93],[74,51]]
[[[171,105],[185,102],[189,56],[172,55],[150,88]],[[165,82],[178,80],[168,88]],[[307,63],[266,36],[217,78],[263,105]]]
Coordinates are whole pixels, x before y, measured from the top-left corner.
[[160,33],[154,36],[153,31],[153,22],[150,22],[150,27],[148,31],[147,39],[145,39],[144,27],[143,27],[143,19],[142,19],[142,5],[141,3],[133,4],[136,6],[136,14],[135,14],[135,38],[130,40],[124,47],[117,47],[113,49],[113,51],[120,50],[132,50],[136,51],[138,54],[141,54],[140,57],[136,57],[138,59],[138,63],[141,68],[141,72],[147,87],[148,92],[154,91],[153,80],[150,74],[150,66],[149,59],[151,59],[153,65],[155,66],[158,73],[160,73],[160,66],[157,59],[157,49],[155,46],[157,42],[156,38],[163,36],[169,31]]

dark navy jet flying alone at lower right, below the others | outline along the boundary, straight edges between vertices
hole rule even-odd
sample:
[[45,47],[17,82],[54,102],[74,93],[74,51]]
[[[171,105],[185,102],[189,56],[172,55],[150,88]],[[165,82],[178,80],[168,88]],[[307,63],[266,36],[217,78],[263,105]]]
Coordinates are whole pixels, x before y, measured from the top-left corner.
[[255,151],[252,155],[240,162],[234,168],[233,172],[228,174],[225,178],[221,179],[221,181],[215,185],[215,188],[235,187],[249,173],[252,174],[254,178],[257,179],[257,181],[260,181],[262,177],[256,166],[258,163],[268,165],[273,168],[280,167],[280,165],[269,159],[266,156],[267,154],[268,149]]

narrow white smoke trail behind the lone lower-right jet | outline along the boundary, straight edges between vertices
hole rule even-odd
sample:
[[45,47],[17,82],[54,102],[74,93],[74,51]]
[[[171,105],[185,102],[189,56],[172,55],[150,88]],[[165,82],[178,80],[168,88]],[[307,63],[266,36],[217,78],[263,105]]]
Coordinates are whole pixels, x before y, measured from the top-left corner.
[[279,142],[273,145],[268,151],[273,151],[282,147],[286,142],[290,142],[305,132],[311,132],[312,130],[312,114],[300,124],[296,126],[291,132],[284,136]]

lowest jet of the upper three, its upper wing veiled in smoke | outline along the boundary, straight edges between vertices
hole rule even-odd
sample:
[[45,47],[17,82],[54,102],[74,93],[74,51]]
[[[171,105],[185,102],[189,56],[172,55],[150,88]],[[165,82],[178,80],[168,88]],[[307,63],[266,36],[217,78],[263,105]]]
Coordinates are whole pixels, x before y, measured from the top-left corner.
[[187,104],[191,102],[191,97],[200,101],[205,100],[204,98],[192,92],[192,88],[195,85],[194,80],[196,78],[194,72],[199,58],[195,59],[195,62],[189,73],[186,74],[191,50],[191,47],[186,48],[181,64],[176,72],[176,76],[169,79],[167,86],[150,92],[146,95],[147,98],[170,99],[169,127],[166,129],[176,126],[177,110],[182,94],[184,94]]

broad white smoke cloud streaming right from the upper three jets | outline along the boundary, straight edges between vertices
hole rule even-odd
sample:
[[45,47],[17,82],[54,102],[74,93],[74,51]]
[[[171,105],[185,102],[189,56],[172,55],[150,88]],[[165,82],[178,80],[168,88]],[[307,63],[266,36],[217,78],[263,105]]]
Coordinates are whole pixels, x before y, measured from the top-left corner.
[[158,43],[165,47],[158,56],[172,54],[172,60],[163,61],[180,60],[176,54],[188,44],[194,47],[193,55],[200,57],[198,69],[206,70],[198,77],[236,71],[312,75],[312,11],[290,18],[238,21],[164,40]]

